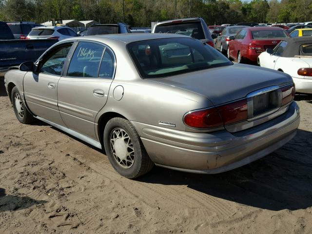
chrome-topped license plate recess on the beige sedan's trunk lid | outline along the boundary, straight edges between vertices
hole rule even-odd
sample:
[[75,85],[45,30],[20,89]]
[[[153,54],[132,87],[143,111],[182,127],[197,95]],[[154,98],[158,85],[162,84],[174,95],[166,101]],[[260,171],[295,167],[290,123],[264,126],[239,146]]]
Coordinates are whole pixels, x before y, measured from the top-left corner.
[[278,86],[271,86],[251,93],[248,96],[248,119],[261,117],[282,105],[282,91]]

